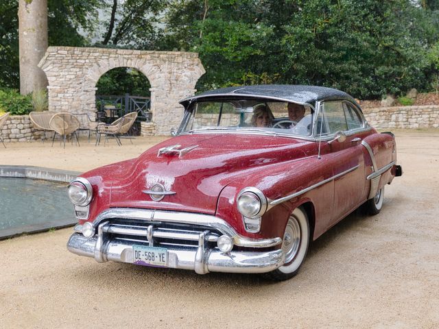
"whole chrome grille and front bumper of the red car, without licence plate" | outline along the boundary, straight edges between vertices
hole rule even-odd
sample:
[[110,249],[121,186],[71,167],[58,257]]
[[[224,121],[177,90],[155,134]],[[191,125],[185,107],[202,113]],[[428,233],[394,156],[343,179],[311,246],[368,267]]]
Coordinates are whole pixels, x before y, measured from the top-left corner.
[[[167,267],[209,272],[265,273],[284,264],[282,239],[250,239],[238,234],[223,219],[211,215],[137,208],[109,208],[93,221],[94,235],[84,236],[75,226],[67,248],[80,256],[134,263],[133,246],[165,247]],[[221,235],[230,237],[235,250],[217,247]],[[161,245],[163,243],[163,245]],[[244,248],[246,251],[241,251]],[[263,248],[263,250],[261,250]],[[237,250],[238,249],[238,250]]]

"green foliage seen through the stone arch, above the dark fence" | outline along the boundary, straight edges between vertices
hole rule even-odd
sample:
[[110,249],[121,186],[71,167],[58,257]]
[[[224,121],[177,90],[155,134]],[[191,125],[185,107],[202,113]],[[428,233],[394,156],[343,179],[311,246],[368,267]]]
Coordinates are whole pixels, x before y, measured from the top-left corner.
[[96,84],[96,95],[150,96],[150,82],[135,69],[119,67],[102,75]]

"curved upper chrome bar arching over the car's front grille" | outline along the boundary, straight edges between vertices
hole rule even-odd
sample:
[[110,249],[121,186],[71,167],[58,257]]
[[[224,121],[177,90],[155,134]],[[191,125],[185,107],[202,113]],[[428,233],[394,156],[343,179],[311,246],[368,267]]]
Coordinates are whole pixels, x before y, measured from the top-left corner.
[[113,218],[137,219],[141,221],[166,221],[169,223],[185,223],[189,225],[200,225],[215,228],[230,236],[235,245],[241,247],[273,247],[282,242],[280,237],[270,239],[251,239],[241,236],[229,223],[223,219],[211,215],[196,214],[192,212],[176,212],[167,210],[150,210],[136,208],[109,208],[101,212],[93,221],[97,227],[102,221]]

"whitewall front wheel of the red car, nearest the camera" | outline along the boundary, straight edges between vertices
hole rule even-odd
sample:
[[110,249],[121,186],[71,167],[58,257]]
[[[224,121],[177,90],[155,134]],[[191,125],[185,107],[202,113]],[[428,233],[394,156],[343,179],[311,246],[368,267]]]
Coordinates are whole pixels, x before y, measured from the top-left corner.
[[305,260],[305,256],[307,256],[308,245],[308,217],[305,210],[299,207],[289,216],[283,234],[282,250],[285,254],[285,264],[274,271],[265,273],[265,277],[271,280],[283,281],[296,276],[303,260]]

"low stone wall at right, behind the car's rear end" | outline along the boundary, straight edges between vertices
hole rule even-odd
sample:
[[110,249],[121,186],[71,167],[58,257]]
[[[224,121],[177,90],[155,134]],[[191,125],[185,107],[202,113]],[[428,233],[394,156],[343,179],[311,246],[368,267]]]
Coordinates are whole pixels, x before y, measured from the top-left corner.
[[439,106],[398,106],[391,108],[364,108],[364,117],[379,129],[438,128]]

